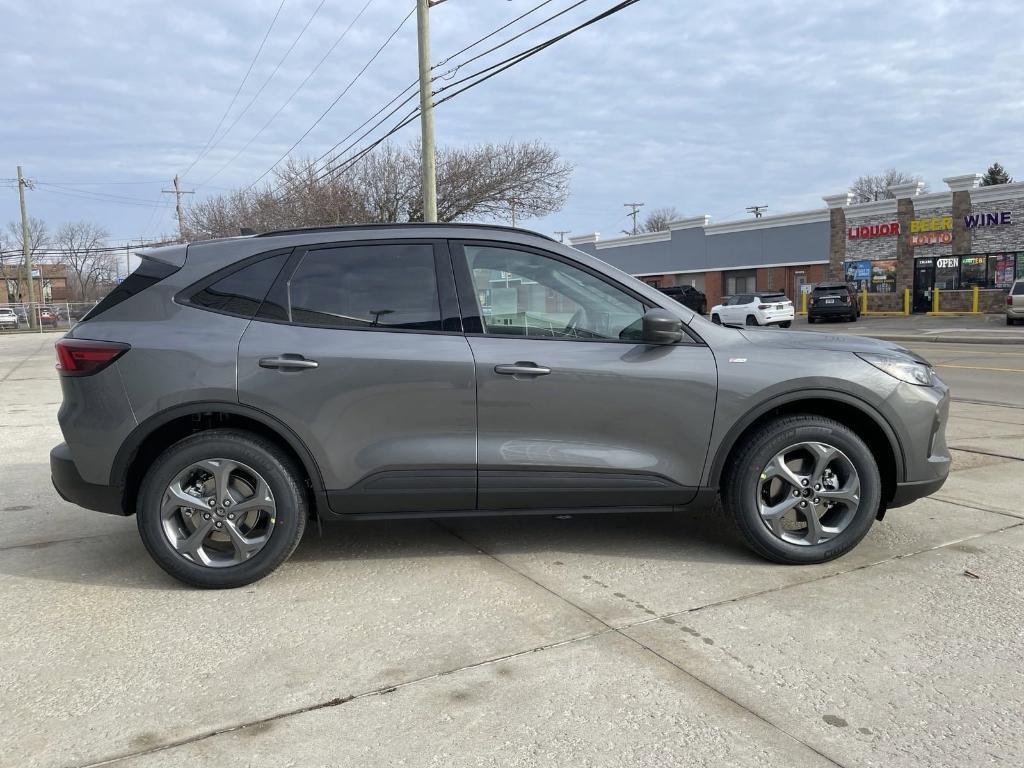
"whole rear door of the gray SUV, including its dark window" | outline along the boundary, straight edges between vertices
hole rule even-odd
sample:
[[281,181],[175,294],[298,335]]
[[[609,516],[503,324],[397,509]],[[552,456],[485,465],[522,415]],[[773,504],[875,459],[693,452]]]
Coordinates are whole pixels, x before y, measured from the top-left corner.
[[476,383],[443,242],[297,251],[239,345],[239,399],[292,428],[339,513],[476,505]]

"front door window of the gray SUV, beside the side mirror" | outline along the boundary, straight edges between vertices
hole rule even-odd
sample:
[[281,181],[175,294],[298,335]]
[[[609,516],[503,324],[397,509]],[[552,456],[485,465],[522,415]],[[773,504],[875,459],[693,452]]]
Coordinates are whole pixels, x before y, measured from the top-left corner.
[[465,247],[484,332],[564,339],[642,338],[644,305],[578,267],[540,254]]

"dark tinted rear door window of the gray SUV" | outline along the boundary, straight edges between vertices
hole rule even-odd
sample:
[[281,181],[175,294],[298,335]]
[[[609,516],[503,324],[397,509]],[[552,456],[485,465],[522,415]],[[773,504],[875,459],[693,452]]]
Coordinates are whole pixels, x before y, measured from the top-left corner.
[[330,328],[440,331],[433,246],[309,251],[288,286],[291,319]]

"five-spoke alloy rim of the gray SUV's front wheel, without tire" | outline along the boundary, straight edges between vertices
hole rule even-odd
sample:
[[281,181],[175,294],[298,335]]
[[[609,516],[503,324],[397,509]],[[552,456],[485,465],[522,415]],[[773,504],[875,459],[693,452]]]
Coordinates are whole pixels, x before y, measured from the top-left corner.
[[765,465],[756,502],[773,536],[813,546],[839,536],[853,521],[860,507],[860,477],[835,445],[798,442]]

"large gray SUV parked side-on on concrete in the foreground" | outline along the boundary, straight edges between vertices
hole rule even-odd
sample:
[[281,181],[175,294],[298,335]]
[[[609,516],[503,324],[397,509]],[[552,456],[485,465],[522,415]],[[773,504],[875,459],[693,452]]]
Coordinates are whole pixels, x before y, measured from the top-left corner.
[[938,489],[949,390],[881,341],[713,325],[543,236],[407,224],[141,252],[57,342],[66,500],[198,587],[307,520],[713,505],[838,557]]

